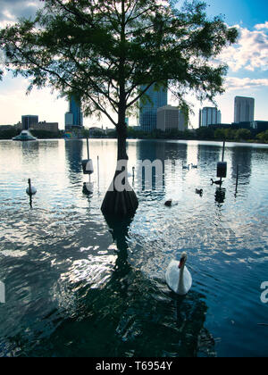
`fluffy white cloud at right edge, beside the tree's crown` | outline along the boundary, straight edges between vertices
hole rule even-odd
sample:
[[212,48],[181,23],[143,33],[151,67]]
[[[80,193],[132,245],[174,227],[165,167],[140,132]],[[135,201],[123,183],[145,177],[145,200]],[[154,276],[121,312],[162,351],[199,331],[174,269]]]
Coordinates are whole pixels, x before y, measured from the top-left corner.
[[[268,25],[268,22],[266,23]],[[257,30],[251,31],[236,26],[239,29],[238,43],[226,48],[220,57],[224,63],[229,65],[231,71],[268,70],[268,34],[263,27],[261,29],[261,25],[256,25],[256,27]]]

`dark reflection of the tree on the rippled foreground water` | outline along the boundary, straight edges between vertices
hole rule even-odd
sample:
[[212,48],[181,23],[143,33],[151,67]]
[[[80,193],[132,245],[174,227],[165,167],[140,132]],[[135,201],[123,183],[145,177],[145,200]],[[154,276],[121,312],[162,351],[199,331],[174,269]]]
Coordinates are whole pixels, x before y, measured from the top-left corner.
[[[21,356],[191,357],[214,356],[214,339],[205,329],[205,297],[195,290],[180,297],[163,279],[149,279],[129,261],[131,219],[106,218],[116,245],[105,282],[59,279],[57,308],[37,327],[21,327],[13,346]],[[91,273],[92,275],[93,273]],[[62,283],[62,285],[61,285]],[[23,332],[33,332],[26,341]],[[28,335],[29,337],[29,335]]]

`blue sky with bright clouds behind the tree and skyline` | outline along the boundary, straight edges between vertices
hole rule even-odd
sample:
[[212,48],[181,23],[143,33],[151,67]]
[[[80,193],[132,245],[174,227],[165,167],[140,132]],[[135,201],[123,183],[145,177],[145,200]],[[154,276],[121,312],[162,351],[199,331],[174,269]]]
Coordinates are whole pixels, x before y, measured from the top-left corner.
[[[226,48],[221,60],[228,63],[229,72],[226,79],[226,91],[216,97],[216,103],[222,111],[222,122],[234,121],[234,97],[249,96],[255,98],[255,120],[268,121],[268,2],[267,0],[206,0],[207,14],[210,17],[222,14],[229,26],[239,29],[239,40],[236,45]],[[33,15],[39,6],[38,0],[0,0],[0,28],[14,22],[18,17]],[[1,63],[1,55],[0,55]],[[68,103],[51,94],[49,88],[33,89],[26,96],[28,82],[10,73],[0,81],[0,125],[14,124],[21,121],[23,114],[38,114],[39,121],[59,122],[64,128],[64,113]],[[209,102],[198,103],[188,97],[194,104],[195,115],[191,118],[193,128],[198,127],[198,112],[202,106],[211,106]],[[175,104],[169,98],[169,104]],[[105,118],[104,127],[113,125]],[[84,119],[84,125],[100,126],[100,121]],[[135,118],[130,125],[137,125]]]

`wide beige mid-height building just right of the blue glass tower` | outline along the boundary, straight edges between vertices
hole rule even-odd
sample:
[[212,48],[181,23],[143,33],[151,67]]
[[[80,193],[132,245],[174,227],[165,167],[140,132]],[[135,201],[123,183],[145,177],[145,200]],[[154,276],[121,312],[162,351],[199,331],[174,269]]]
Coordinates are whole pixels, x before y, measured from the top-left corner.
[[178,107],[164,105],[157,109],[156,128],[163,131],[170,131],[172,129],[184,131],[188,129],[188,121]]

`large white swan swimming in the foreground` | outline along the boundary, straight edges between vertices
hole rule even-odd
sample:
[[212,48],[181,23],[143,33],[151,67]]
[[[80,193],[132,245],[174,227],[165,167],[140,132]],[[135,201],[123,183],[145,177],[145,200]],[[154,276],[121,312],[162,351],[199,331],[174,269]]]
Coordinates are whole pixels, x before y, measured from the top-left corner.
[[187,254],[182,253],[180,262],[170,262],[167,271],[165,273],[165,279],[167,285],[180,296],[188,294],[189,289],[192,287],[192,277],[188,268],[185,266],[187,261]]

